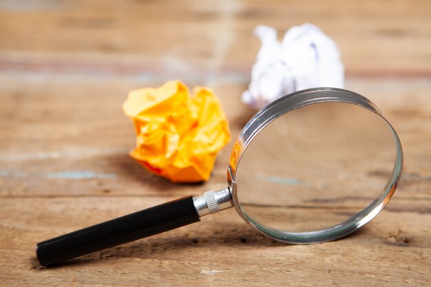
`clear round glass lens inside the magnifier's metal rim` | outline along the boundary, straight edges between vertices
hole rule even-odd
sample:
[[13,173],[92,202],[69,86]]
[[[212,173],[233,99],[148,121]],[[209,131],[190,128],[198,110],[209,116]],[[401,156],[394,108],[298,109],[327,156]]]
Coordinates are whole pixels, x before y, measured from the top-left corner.
[[384,190],[397,154],[377,114],[348,103],[280,116],[246,148],[235,175],[247,217],[287,232],[335,226]]

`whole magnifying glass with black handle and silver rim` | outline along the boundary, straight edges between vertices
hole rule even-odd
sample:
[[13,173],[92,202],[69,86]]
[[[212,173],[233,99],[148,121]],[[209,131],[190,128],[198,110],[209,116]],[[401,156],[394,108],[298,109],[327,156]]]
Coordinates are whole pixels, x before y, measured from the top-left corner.
[[370,100],[344,89],[305,89],[275,100],[246,124],[233,146],[224,189],[39,242],[36,256],[50,266],[232,206],[274,240],[336,240],[386,206],[402,166],[397,133]]

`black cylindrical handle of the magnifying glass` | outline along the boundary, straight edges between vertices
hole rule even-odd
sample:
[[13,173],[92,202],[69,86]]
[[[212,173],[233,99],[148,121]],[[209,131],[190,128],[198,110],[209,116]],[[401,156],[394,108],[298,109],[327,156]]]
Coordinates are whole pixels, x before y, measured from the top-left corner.
[[49,266],[199,220],[190,196],[39,242],[36,256],[42,266]]

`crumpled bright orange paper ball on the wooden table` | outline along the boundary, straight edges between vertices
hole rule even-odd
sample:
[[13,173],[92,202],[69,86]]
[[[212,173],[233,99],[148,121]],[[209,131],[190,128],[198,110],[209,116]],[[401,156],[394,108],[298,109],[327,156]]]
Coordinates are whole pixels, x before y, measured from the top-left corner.
[[220,100],[206,87],[190,96],[180,81],[134,89],[123,104],[136,130],[130,156],[172,182],[208,180],[215,157],[231,139]]

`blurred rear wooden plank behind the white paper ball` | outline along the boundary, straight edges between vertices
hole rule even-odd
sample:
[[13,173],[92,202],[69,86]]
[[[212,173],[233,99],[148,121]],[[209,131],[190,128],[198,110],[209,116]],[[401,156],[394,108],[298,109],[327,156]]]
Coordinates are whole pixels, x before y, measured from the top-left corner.
[[311,22],[338,43],[348,74],[429,77],[430,18],[428,0],[390,1],[384,8],[372,0],[38,1],[34,6],[6,0],[0,3],[0,68],[248,76],[259,47],[255,25],[284,33]]

